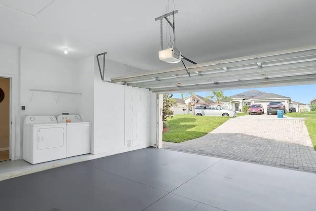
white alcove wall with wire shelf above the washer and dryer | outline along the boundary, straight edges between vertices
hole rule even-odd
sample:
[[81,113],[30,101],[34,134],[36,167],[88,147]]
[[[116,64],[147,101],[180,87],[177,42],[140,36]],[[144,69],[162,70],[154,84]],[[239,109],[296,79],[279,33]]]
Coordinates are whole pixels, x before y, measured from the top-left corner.
[[[35,92],[29,89],[79,92],[78,62],[67,55],[57,57],[29,49],[21,49],[21,111],[28,115],[78,114],[80,95]],[[59,96],[60,95],[60,96]],[[59,96],[59,99],[58,99]],[[58,102],[57,102],[58,99]]]

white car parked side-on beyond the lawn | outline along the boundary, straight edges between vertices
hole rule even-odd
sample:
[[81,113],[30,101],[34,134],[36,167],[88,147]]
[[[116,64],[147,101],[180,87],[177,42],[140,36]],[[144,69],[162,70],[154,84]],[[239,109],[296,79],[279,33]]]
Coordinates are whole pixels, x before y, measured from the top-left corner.
[[194,115],[237,117],[237,112],[234,110],[225,109],[218,105],[197,105],[195,107]]

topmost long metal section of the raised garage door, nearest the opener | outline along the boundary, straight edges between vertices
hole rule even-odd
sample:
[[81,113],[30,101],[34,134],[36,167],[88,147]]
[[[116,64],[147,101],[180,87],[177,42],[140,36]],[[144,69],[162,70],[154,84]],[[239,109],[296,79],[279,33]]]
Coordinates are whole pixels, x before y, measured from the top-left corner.
[[[316,55],[316,46],[310,46],[310,47],[304,47],[304,48],[297,48],[297,49],[291,49],[291,50],[285,50],[285,51],[277,51],[272,53],[264,53],[259,55],[253,55],[253,56],[245,56],[245,57],[239,57],[235,59],[227,59],[227,60],[221,60],[221,61],[215,61],[215,62],[209,62],[204,64],[197,64],[194,66],[190,66],[188,70],[190,72],[201,72],[203,74],[203,71],[210,71],[215,69],[223,69],[229,67],[237,67],[237,66],[245,66],[245,65],[252,65],[257,63],[264,64],[265,62],[282,62],[282,61],[297,61],[302,60],[304,57],[315,57]],[[141,81],[146,80],[148,78],[152,77],[166,77],[170,75],[176,75],[178,72],[183,71],[183,68],[173,68],[165,71],[159,71],[159,72],[151,72],[148,74],[142,74],[142,75],[136,75],[136,76],[128,76],[128,77],[117,77],[112,78],[112,83],[118,83],[118,82],[132,82],[132,81]]]

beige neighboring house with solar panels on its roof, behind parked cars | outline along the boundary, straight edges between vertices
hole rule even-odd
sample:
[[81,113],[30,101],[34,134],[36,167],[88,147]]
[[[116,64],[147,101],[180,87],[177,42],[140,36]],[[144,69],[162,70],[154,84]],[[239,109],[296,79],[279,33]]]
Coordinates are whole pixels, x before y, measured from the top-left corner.
[[232,101],[222,100],[221,102],[226,104],[229,109],[233,109],[237,112],[242,111],[242,106],[251,106],[252,104],[262,104],[265,112],[269,102],[277,101],[285,105],[286,112],[289,111],[291,98],[267,93],[264,91],[250,90],[231,96]]

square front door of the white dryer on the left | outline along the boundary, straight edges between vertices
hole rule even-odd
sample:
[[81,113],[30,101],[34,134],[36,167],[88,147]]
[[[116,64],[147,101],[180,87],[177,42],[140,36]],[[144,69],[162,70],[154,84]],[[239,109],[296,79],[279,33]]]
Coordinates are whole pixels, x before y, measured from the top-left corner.
[[37,130],[37,149],[50,149],[64,145],[64,128],[50,127]]

